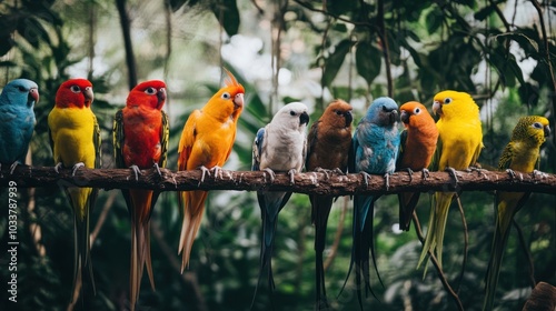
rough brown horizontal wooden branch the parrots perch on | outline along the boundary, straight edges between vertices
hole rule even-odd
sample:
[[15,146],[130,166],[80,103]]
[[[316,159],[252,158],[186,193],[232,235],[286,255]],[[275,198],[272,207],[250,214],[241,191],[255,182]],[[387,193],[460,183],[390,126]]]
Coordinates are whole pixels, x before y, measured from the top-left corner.
[[129,169],[79,169],[76,175],[71,170],[61,169],[57,173],[53,168],[18,165],[12,175],[3,165],[0,171],[0,187],[8,187],[16,181],[19,188],[39,187],[93,187],[110,189],[152,189],[160,191],[178,190],[240,190],[240,191],[292,191],[321,195],[346,194],[390,194],[398,192],[429,191],[490,191],[504,190],[513,192],[539,192],[556,194],[556,174],[537,172],[516,172],[512,178],[507,172],[497,171],[457,171],[458,182],[447,172],[430,172],[427,179],[420,172],[409,177],[407,172],[396,172],[389,177],[389,188],[381,175],[368,175],[368,185],[359,173],[338,174],[322,172],[305,172],[295,175],[290,184],[289,175],[276,173],[274,181],[262,171],[228,171],[215,179],[212,173],[206,174],[200,182],[201,171],[173,171],[160,169],[161,177],[155,169],[143,170],[138,180]]

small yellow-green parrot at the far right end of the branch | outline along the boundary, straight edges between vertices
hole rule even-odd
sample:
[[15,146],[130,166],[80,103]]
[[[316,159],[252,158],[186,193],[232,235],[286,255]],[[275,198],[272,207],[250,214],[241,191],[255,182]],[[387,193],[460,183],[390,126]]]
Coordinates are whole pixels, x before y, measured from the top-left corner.
[[[507,170],[513,177],[516,174],[514,170],[526,173],[533,172],[539,164],[540,146],[549,134],[550,126],[548,119],[537,116],[520,118],[517,126],[514,128],[512,140],[504,149],[500,160],[498,161],[498,170]],[[512,225],[514,215],[525,204],[529,194],[529,192],[504,191],[498,191],[496,193],[496,207],[498,212],[496,214],[493,250],[490,252],[486,275],[484,310],[492,310],[494,307],[494,297],[496,293],[496,285],[498,284],[504,250],[508,242],[509,227]]]

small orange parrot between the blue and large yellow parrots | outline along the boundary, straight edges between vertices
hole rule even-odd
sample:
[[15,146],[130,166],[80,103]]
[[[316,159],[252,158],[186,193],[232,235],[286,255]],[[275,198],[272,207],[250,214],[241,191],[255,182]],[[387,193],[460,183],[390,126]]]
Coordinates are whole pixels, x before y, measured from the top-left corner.
[[[409,101],[400,108],[400,120],[405,130],[400,133],[399,154],[396,170],[406,170],[409,174],[423,171],[428,174],[428,164],[433,159],[438,140],[438,129],[427,108],[420,102]],[[409,231],[411,215],[419,201],[419,192],[401,192],[399,199],[399,229]]]

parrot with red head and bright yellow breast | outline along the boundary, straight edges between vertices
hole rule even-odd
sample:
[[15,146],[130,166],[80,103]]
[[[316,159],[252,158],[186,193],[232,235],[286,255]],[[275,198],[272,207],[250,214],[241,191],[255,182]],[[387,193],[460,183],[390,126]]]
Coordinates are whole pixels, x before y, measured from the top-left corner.
[[[57,172],[60,167],[72,168],[73,175],[82,167],[100,168],[100,128],[91,110],[92,100],[92,84],[86,79],[68,80],[56,93],[54,108],[48,114],[48,127]],[[89,215],[95,207],[98,189],[69,187],[66,188],[66,193],[75,214],[71,293],[73,295],[78,275],[85,284],[86,271],[89,273],[95,292],[89,244]],[[72,302],[75,302],[73,299]]]

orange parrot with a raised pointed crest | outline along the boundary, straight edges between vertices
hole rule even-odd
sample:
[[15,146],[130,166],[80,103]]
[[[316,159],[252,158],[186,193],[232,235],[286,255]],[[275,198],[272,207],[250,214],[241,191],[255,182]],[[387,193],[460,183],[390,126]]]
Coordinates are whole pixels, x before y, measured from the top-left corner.
[[[206,173],[212,171],[217,177],[230,156],[239,114],[244,110],[244,87],[234,74],[228,77],[222,87],[200,110],[191,112],[183,127],[178,147],[178,170],[202,170],[201,182]],[[183,208],[183,222],[178,254],[183,252],[181,272],[189,265],[191,247],[201,224],[207,191],[180,191],[178,200]]]

